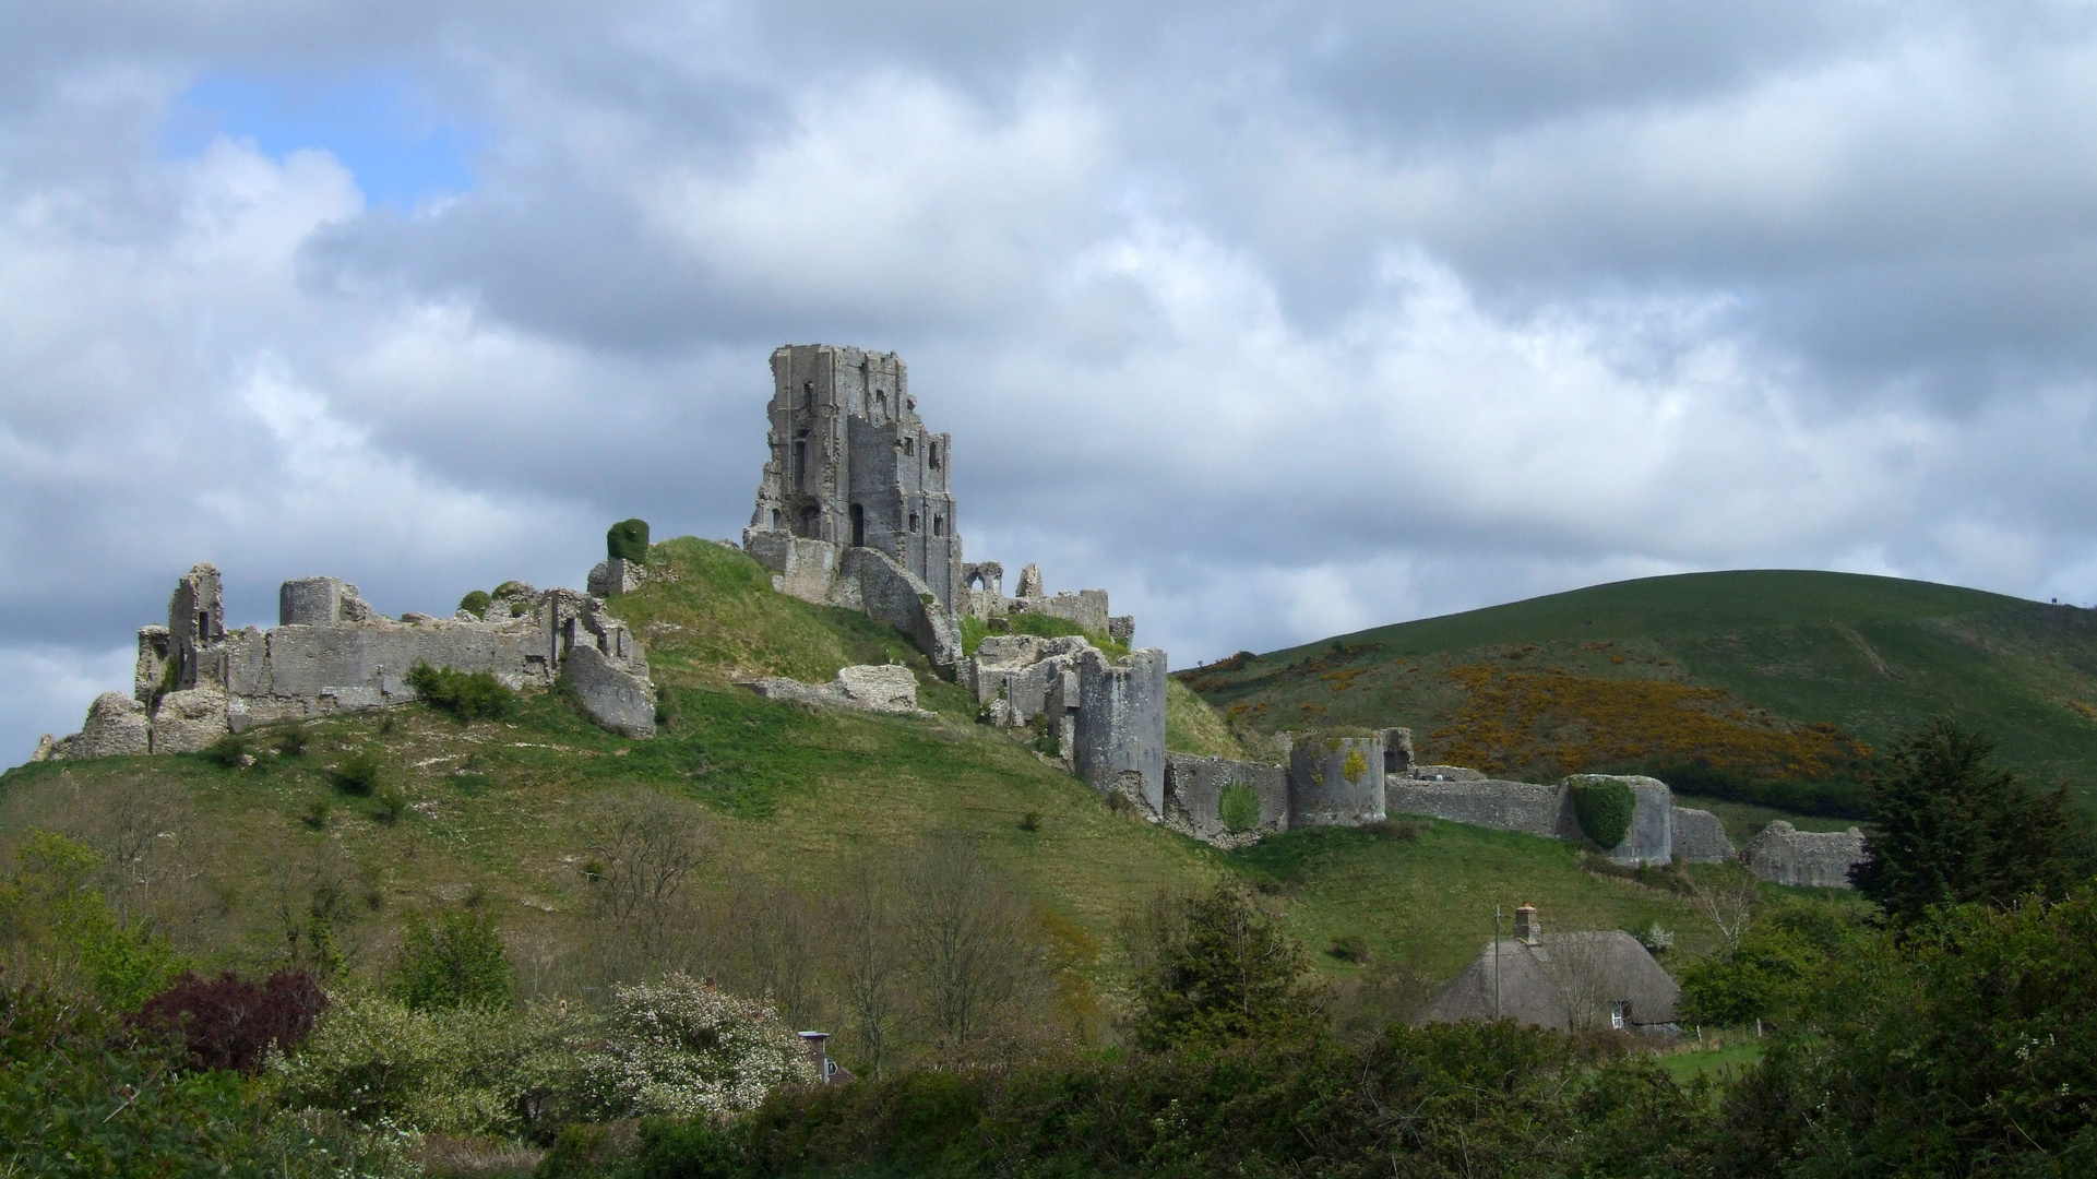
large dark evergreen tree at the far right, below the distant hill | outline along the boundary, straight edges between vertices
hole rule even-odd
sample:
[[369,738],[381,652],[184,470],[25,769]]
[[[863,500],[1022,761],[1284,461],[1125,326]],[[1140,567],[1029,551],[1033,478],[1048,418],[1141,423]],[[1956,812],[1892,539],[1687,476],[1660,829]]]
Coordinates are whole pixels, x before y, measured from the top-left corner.
[[1900,925],[1936,904],[2059,898],[2074,879],[2066,791],[2034,795],[1988,766],[1996,743],[1933,717],[1894,749],[1894,772],[1871,789],[1877,833],[1856,887]]

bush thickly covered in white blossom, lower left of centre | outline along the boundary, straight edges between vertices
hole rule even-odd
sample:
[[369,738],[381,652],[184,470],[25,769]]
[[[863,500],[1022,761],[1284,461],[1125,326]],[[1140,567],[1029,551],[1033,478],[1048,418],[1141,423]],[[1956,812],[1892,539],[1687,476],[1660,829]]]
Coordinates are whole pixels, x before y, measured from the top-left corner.
[[604,1038],[579,1064],[604,1118],[734,1114],[778,1085],[816,1080],[801,1036],[776,1011],[684,973],[614,988]]

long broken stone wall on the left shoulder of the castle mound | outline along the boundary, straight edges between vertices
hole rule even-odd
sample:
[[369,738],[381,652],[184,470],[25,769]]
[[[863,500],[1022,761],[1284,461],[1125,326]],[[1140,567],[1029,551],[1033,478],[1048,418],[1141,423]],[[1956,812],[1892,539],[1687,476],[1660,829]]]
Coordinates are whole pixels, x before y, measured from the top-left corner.
[[168,625],[138,629],[132,701],[96,699],[82,730],[50,755],[185,753],[258,724],[407,703],[417,663],[491,671],[512,688],[552,686],[566,673],[600,724],[654,736],[648,657],[587,594],[512,585],[480,619],[466,610],[388,619],[356,585],[302,577],[279,590],[277,617],[271,629],[226,631],[218,569],[191,569],[176,583]]

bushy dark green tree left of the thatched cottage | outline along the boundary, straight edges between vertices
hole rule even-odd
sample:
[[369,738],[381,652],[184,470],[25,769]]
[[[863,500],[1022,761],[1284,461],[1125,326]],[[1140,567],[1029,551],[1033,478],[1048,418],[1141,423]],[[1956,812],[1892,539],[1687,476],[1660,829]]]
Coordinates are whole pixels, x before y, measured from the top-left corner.
[[1134,1036],[1149,1049],[1323,1026],[1302,944],[1239,883],[1158,898],[1137,942]]

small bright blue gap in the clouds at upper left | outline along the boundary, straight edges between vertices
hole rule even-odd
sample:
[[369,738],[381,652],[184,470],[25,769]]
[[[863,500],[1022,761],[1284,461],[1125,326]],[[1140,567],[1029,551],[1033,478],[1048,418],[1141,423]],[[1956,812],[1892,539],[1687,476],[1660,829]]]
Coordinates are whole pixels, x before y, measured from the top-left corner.
[[468,157],[480,143],[394,71],[310,80],[206,73],[176,97],[161,143],[168,155],[189,157],[220,134],[254,141],[275,157],[327,151],[356,176],[367,203],[398,210],[470,191]]

